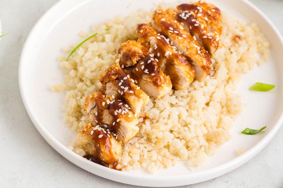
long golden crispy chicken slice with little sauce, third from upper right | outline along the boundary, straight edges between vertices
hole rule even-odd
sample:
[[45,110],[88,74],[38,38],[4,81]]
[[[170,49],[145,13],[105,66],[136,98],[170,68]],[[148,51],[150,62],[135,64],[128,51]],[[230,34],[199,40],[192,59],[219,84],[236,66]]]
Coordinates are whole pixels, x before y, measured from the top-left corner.
[[156,10],[153,15],[153,27],[166,34],[170,43],[187,56],[195,69],[195,79],[202,81],[210,71],[211,60],[205,49],[200,46],[195,37],[182,29],[182,25],[174,20],[169,13],[163,10]]

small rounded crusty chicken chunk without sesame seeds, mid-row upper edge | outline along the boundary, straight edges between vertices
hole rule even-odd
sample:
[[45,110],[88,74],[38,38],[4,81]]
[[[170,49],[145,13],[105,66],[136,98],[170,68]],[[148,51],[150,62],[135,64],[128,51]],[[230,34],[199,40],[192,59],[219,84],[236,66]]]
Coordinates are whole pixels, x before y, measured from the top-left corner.
[[122,68],[136,65],[136,63],[149,55],[146,47],[141,46],[134,40],[128,40],[121,44],[118,49],[117,58]]

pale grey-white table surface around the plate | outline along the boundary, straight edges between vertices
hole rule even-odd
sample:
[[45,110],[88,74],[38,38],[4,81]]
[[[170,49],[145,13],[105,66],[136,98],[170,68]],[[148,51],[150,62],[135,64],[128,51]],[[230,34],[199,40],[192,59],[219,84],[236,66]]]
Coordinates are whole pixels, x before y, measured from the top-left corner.
[[[57,0],[0,0],[0,187],[138,187],[93,175],[58,154],[32,124],[18,86],[25,39]],[[283,0],[251,0],[283,34]],[[283,52],[282,52],[283,53]],[[283,127],[253,159],[230,173],[181,187],[283,187]]]

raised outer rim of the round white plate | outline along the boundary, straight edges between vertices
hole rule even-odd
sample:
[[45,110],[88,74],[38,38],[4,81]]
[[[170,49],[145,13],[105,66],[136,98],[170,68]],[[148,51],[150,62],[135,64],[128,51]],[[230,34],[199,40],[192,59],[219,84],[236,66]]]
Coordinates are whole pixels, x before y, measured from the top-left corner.
[[[190,174],[185,175],[135,175],[131,173],[125,173],[118,170],[109,169],[107,167],[92,163],[91,161],[88,161],[87,159],[82,158],[78,154],[75,154],[73,151],[68,149],[66,146],[64,146],[62,143],[60,143],[56,138],[54,138],[51,133],[47,131],[47,129],[40,123],[39,119],[35,116],[33,113],[33,110],[28,102],[28,99],[26,97],[26,91],[23,88],[23,65],[25,61],[25,54],[27,53],[28,45],[32,39],[33,33],[36,32],[36,29],[39,25],[39,23],[44,20],[44,18],[48,17],[50,13],[53,12],[54,9],[61,6],[61,4],[66,3],[68,0],[60,0],[57,3],[55,3],[51,8],[49,8],[42,16],[41,18],[36,22],[36,24],[31,29],[28,37],[25,40],[25,44],[22,48],[22,52],[20,55],[19,60],[19,69],[18,69],[18,78],[19,78],[19,89],[20,94],[25,106],[25,109],[31,118],[32,123],[36,127],[37,131],[42,135],[42,137],[47,141],[49,145],[52,146],[53,149],[55,149],[59,154],[61,154],[64,158],[72,162],[73,164],[79,166],[80,168],[89,171],[92,174],[101,176],[103,178],[114,180],[117,182],[130,184],[130,185],[140,185],[140,186],[180,186],[180,185],[188,185],[193,183],[199,183],[206,180],[210,180],[212,178],[218,177],[220,175],[226,174],[241,165],[245,164],[247,161],[252,159],[255,155],[257,155],[264,147],[270,142],[270,140],[275,136],[275,134],[278,132],[279,128],[281,127],[283,123],[283,112],[281,113],[280,117],[278,118],[278,121],[275,123],[274,127],[252,148],[247,150],[244,154],[241,154],[240,156],[237,156],[236,158],[225,162],[222,165],[215,166],[213,168],[209,168],[207,170],[202,170],[199,172],[192,172]],[[83,0],[80,2],[86,3],[91,0]],[[275,32],[277,37],[280,39],[280,43],[283,46],[283,38],[278,31],[278,29],[275,27],[275,25],[269,20],[269,18],[262,13],[255,5],[253,5],[248,0],[240,0],[242,3],[246,4],[250,8],[254,9],[266,22],[269,24],[271,29]],[[93,170],[90,170],[91,166],[94,166],[97,171],[93,172]],[[101,172],[104,172],[103,174],[99,174]],[[115,176],[112,176],[114,174]],[[202,180],[197,180],[200,176],[206,176],[206,178],[203,178]],[[127,180],[127,178],[130,178],[130,182]],[[189,179],[189,180],[186,180]],[[194,181],[194,179],[196,179]],[[148,180],[145,181],[145,180]],[[162,182],[162,183],[161,183]],[[173,182],[173,183],[172,183]],[[189,182],[189,183],[188,183]]]

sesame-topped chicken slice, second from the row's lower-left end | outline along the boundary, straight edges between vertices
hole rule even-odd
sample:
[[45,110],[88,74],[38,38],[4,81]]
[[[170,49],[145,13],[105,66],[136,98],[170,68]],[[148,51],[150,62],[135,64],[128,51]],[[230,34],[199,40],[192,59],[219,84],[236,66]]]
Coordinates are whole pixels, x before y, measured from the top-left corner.
[[109,128],[117,134],[118,141],[126,143],[139,132],[137,114],[114,95],[105,97],[101,92],[89,95],[86,97],[85,110],[93,126]]

